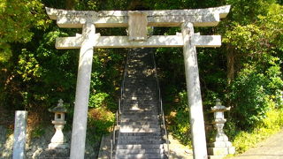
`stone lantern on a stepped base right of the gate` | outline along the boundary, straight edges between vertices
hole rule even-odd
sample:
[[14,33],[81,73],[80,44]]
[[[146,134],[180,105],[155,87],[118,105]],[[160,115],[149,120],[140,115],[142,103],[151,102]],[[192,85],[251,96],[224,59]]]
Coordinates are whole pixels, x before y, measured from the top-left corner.
[[214,121],[212,123],[217,129],[217,134],[214,142],[209,144],[208,153],[210,158],[223,158],[226,155],[235,153],[235,148],[223,131],[224,124],[226,123],[224,112],[227,110],[230,110],[230,107],[227,108],[221,105],[219,99],[216,100],[216,105],[211,107],[211,111],[214,113]]

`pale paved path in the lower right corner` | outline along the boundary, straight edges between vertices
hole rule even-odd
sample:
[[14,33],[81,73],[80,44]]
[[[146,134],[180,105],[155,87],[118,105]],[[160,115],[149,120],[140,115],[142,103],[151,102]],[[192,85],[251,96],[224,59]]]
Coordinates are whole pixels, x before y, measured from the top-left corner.
[[283,129],[245,153],[229,159],[283,159]]

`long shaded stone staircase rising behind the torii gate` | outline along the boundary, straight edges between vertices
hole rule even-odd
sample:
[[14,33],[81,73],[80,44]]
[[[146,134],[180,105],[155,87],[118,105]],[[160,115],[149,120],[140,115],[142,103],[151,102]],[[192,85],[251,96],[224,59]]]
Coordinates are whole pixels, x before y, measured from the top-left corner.
[[159,95],[150,49],[129,51],[115,158],[167,158],[160,125]]

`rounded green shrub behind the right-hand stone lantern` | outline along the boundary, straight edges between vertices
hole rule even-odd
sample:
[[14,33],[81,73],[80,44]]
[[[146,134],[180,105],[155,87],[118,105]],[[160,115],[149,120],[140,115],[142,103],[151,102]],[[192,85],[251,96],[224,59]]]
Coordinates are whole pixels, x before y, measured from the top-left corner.
[[266,112],[279,106],[279,90],[283,87],[279,64],[273,64],[266,71],[249,65],[241,70],[231,85],[230,100],[236,125],[249,129],[260,124]]

